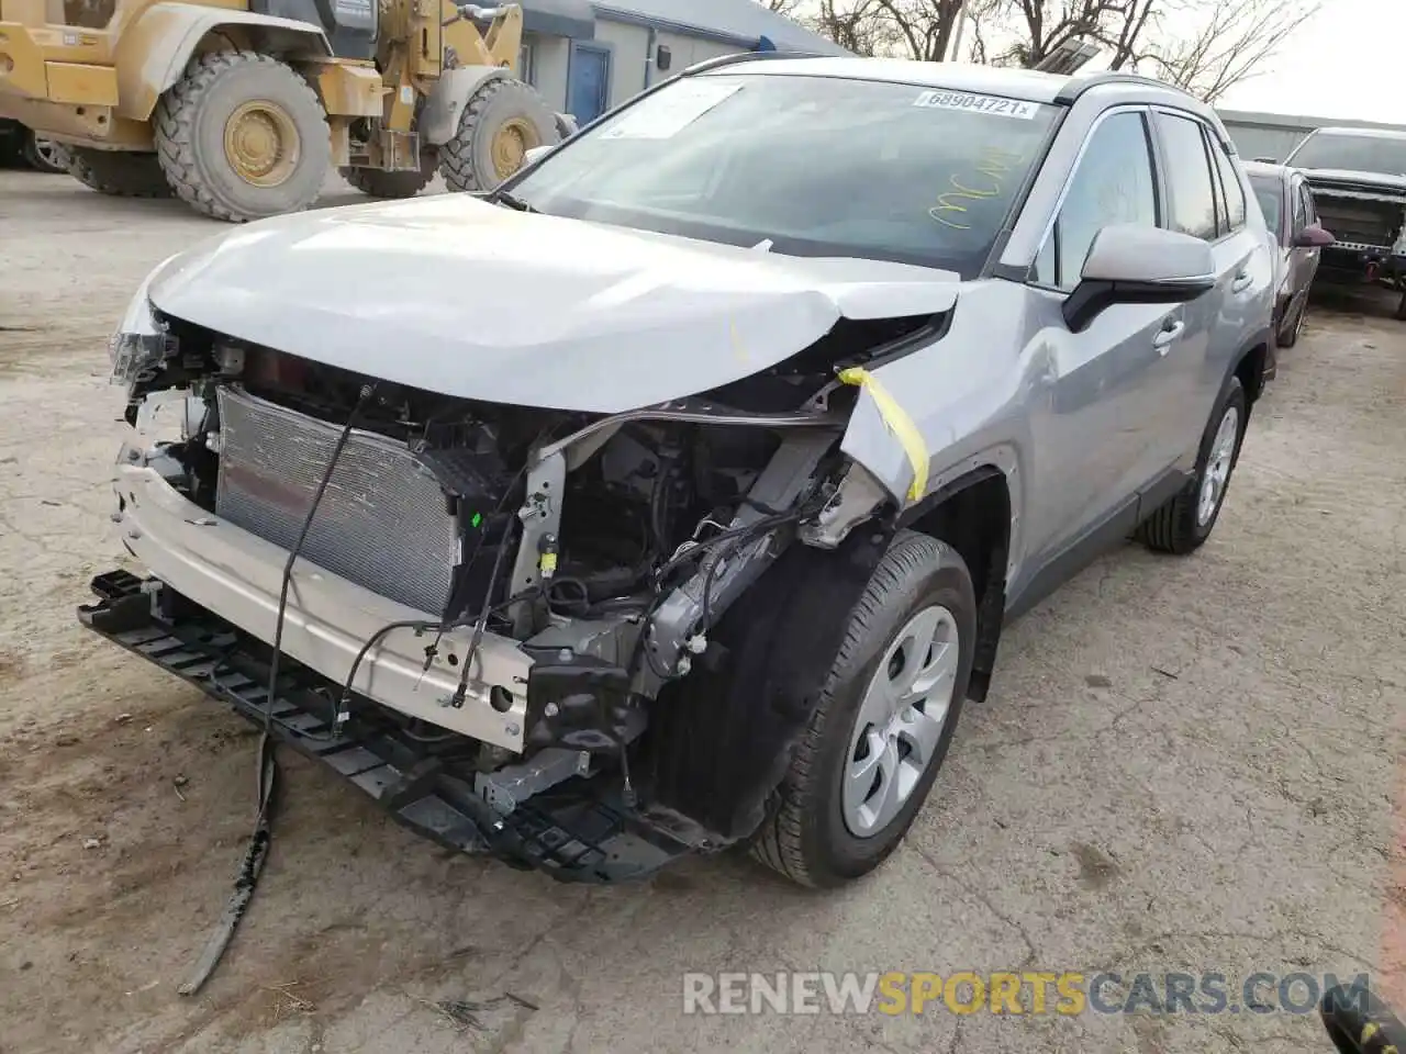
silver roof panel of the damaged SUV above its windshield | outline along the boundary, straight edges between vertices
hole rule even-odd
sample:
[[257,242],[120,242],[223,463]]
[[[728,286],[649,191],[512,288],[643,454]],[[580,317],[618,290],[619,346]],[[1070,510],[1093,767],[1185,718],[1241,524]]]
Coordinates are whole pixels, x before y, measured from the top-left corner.
[[1161,97],[1167,101],[1175,100],[1184,105],[1189,104],[1194,110],[1205,108],[1192,96],[1171,84],[1130,73],[1063,74],[1042,73],[1031,69],[980,66],[965,62],[830,56],[778,56],[766,58],[765,60],[756,60],[755,56],[728,56],[727,59],[700,63],[695,69],[699,73],[735,73],[740,66],[744,66],[748,73],[806,74],[813,77],[876,80],[891,84],[917,84],[920,87],[1004,96],[1026,103],[1046,104],[1067,104],[1087,90],[1126,84],[1152,91],[1154,97]]

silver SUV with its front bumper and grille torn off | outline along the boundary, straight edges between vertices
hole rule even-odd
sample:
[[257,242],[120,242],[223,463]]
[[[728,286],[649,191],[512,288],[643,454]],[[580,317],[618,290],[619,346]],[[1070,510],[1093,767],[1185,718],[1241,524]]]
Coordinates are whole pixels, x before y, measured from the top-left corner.
[[486,195],[157,267],[112,339],[149,576],[82,618],[457,849],[852,880],[1011,617],[1211,534],[1270,246],[1154,82],[695,67]]

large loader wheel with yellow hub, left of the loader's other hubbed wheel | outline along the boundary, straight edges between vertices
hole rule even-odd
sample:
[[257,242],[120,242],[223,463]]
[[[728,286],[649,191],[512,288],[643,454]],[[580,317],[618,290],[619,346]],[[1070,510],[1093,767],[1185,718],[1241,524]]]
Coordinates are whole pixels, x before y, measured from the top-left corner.
[[301,212],[332,171],[328,115],[291,66],[250,51],[200,55],[156,104],[172,188],[214,219]]

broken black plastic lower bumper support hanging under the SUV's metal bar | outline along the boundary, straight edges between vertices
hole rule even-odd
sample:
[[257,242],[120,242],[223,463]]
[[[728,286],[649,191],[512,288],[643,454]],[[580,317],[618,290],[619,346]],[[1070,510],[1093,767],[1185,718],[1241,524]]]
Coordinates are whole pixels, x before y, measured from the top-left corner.
[[148,587],[114,571],[93,579],[91,590],[97,603],[79,609],[87,628],[229,703],[259,727],[271,718],[277,739],[443,846],[579,883],[638,878],[690,852],[626,808],[613,784],[572,780],[499,814],[474,791],[471,760],[418,743],[370,700],[356,700],[352,720],[335,735],[330,718],[340,686],[307,666],[290,663],[270,700],[269,665],[257,642],[167,586],[152,580]]

